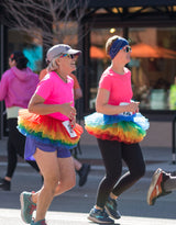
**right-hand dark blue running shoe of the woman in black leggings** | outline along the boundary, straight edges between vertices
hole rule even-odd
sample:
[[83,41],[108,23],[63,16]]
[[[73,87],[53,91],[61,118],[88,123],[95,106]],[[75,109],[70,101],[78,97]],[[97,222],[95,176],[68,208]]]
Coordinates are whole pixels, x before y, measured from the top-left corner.
[[111,216],[112,218],[119,220],[121,217],[121,214],[118,211],[117,200],[113,200],[109,196],[107,202],[106,202],[105,209],[106,209],[108,215]]

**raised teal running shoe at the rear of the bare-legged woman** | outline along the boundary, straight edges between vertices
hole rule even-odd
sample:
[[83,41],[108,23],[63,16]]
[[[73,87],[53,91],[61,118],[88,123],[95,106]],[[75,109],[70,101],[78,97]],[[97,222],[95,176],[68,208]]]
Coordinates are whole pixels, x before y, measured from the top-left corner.
[[20,194],[21,202],[21,217],[24,223],[30,224],[32,221],[32,214],[36,210],[36,204],[31,201],[31,192],[22,192]]

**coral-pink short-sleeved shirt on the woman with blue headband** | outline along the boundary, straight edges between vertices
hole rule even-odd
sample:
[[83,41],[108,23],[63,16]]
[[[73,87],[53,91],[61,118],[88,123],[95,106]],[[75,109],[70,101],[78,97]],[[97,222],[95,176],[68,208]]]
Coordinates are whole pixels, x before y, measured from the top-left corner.
[[133,92],[131,88],[131,71],[125,68],[124,75],[116,74],[110,67],[102,74],[99,88],[110,92],[109,104],[119,105],[120,102],[130,103]]

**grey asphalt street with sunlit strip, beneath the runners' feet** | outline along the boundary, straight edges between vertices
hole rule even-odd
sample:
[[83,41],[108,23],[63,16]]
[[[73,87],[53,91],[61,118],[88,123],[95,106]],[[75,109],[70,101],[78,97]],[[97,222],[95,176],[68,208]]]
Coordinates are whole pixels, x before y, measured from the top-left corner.
[[[4,171],[0,166],[0,171]],[[123,168],[123,171],[125,168]],[[94,166],[87,183],[55,198],[47,213],[48,225],[90,225],[87,215],[95,202],[97,185],[103,176],[103,169]],[[146,191],[152,172],[147,171],[135,185],[119,199],[119,210],[122,218],[118,225],[173,225],[176,224],[176,193],[162,198],[154,206],[146,204]],[[41,185],[41,177],[30,168],[20,164],[13,178],[12,191],[0,191],[0,224],[22,225],[20,218],[19,195],[23,190],[36,191]],[[15,223],[14,223],[15,222]]]

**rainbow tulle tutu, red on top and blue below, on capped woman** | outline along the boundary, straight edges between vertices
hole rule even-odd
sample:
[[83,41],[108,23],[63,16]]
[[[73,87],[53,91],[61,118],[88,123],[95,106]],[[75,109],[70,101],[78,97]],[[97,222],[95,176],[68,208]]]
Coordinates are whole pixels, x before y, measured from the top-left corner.
[[77,146],[84,131],[79,124],[76,124],[74,128],[76,136],[70,137],[62,121],[48,115],[30,113],[28,110],[20,110],[18,124],[18,128],[23,135],[66,149]]

